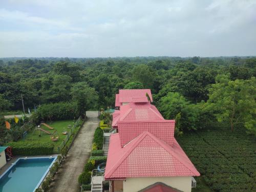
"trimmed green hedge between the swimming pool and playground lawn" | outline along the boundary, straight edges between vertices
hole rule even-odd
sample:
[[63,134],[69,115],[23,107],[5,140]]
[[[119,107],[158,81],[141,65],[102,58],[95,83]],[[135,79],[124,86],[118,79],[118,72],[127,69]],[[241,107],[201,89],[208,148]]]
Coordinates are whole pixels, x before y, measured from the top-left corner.
[[13,155],[50,155],[53,154],[53,143],[41,143],[38,141],[10,142]]

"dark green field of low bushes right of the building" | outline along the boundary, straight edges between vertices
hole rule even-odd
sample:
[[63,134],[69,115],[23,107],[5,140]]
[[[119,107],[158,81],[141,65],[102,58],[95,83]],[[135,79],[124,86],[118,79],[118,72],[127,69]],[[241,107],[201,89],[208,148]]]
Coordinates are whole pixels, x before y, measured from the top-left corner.
[[213,129],[184,134],[178,142],[201,174],[193,191],[253,191],[256,139],[245,130]]

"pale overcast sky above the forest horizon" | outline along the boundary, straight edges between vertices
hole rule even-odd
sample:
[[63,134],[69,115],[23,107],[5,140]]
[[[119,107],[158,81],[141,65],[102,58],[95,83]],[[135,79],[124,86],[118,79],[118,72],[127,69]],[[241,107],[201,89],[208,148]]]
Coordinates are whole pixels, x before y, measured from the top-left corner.
[[0,0],[0,57],[256,55],[256,0]]

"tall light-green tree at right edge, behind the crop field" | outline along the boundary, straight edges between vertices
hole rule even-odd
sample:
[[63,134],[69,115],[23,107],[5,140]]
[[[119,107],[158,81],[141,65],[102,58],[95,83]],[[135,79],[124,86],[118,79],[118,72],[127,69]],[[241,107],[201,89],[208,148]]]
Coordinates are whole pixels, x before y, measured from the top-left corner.
[[219,122],[228,122],[231,131],[244,125],[256,135],[256,79],[231,81],[228,75],[218,75],[209,89],[207,107],[215,111]]

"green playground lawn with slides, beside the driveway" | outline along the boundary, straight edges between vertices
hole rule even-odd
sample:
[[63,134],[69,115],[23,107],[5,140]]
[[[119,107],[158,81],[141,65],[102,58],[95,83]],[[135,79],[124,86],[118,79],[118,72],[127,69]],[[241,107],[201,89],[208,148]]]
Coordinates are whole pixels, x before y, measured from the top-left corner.
[[[49,124],[51,127],[54,128],[54,130],[50,130],[48,127],[45,125],[41,125],[40,128],[44,129],[50,133],[53,133],[54,131],[57,131],[57,135],[59,136],[58,141],[51,141],[51,136],[49,134],[46,134],[42,131],[40,131],[40,137],[38,131],[30,131],[28,135],[26,136],[26,140],[31,140],[31,141],[40,141],[40,142],[52,142],[54,143],[54,152],[57,152],[57,148],[60,145],[60,143],[63,141],[63,139],[66,137],[66,135],[63,135],[62,132],[69,132],[70,128],[68,128],[68,125],[73,126],[73,120],[59,120],[59,121],[54,121],[52,124]],[[56,137],[56,135],[54,135]]]

